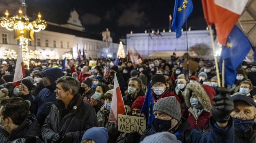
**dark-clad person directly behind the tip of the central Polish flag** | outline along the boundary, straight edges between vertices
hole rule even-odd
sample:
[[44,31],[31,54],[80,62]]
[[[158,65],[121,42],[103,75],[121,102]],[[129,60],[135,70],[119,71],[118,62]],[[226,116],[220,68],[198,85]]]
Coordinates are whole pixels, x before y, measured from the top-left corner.
[[114,75],[115,74],[117,75],[117,81],[119,83],[121,93],[124,96],[124,77],[123,77],[123,74],[119,72],[118,67],[116,65],[111,67],[110,74],[111,74],[111,77],[113,79],[113,84],[114,84]]

